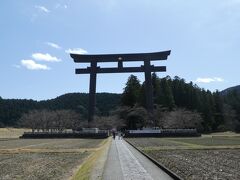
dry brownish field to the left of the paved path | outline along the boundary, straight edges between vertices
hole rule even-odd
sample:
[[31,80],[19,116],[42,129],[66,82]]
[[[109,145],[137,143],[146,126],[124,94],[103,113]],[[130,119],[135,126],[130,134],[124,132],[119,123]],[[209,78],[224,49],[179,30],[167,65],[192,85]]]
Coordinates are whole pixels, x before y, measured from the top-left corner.
[[[7,131],[8,132],[8,131]],[[15,136],[20,130],[14,132]],[[0,138],[0,179],[71,179],[99,149],[101,139]]]

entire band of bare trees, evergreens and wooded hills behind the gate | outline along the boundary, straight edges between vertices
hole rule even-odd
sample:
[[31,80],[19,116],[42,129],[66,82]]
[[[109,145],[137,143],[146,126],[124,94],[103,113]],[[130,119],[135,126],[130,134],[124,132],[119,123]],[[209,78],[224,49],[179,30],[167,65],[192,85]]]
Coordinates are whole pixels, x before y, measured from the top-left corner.
[[[240,131],[240,90],[202,89],[175,76],[152,74],[154,118],[146,111],[145,82],[131,75],[122,94],[97,93],[92,127],[137,129],[197,128],[202,132]],[[0,127],[63,131],[87,126],[88,94],[70,93],[45,101],[0,98]],[[154,124],[154,122],[156,124]]]

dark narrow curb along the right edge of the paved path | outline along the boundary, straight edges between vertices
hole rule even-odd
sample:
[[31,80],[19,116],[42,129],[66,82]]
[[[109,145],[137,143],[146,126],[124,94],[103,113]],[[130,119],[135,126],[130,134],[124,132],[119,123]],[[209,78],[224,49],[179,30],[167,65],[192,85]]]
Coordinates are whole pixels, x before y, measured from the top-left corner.
[[128,140],[124,139],[128,144],[130,144],[134,149],[136,149],[138,152],[140,152],[142,155],[144,155],[146,158],[148,158],[150,161],[152,161],[156,166],[158,166],[160,169],[162,169],[165,173],[167,173],[171,178],[173,178],[174,180],[182,180],[182,178],[180,178],[177,174],[175,174],[173,171],[171,171],[170,169],[168,169],[167,167],[165,167],[163,164],[159,163],[158,161],[156,161],[154,158],[150,157],[149,155],[147,155],[146,153],[144,153],[143,151],[141,151],[139,148],[137,148],[136,146],[134,146],[131,142],[129,142]]

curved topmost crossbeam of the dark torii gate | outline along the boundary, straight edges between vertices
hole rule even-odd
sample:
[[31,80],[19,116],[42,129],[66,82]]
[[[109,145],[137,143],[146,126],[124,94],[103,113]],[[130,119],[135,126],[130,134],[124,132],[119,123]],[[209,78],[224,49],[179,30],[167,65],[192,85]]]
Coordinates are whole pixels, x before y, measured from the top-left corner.
[[75,63],[97,62],[118,62],[118,61],[143,61],[143,60],[166,60],[171,51],[153,53],[133,53],[133,54],[70,54]]

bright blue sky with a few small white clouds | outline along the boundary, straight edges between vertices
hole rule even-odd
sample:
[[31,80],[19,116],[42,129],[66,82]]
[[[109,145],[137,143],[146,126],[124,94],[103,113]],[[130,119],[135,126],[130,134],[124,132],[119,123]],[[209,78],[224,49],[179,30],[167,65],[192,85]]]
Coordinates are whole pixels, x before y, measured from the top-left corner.
[[[89,75],[74,74],[79,65],[70,52],[164,50],[172,53],[157,63],[167,66],[159,77],[179,76],[211,91],[239,85],[240,0],[0,2],[2,98],[42,100],[88,92]],[[129,75],[98,75],[97,91],[120,93]],[[143,74],[135,75],[144,80]]]

